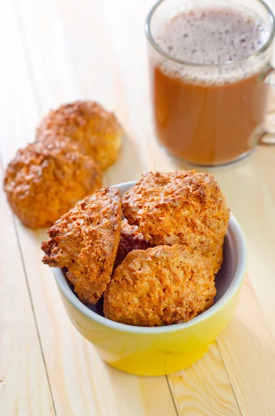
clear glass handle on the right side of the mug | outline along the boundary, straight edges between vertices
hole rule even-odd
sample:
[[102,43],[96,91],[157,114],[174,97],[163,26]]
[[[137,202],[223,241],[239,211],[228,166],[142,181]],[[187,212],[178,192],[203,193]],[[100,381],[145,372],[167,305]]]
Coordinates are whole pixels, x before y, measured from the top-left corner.
[[269,85],[267,114],[265,116],[264,132],[259,144],[270,146],[275,144],[275,69],[270,65],[265,73],[263,82]]

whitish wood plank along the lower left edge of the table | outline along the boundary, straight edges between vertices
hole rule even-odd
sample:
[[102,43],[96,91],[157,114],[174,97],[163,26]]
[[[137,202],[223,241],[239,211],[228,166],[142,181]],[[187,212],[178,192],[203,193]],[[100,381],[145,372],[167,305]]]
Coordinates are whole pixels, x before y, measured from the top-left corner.
[[2,187],[0,206],[0,415],[55,415],[15,227]]

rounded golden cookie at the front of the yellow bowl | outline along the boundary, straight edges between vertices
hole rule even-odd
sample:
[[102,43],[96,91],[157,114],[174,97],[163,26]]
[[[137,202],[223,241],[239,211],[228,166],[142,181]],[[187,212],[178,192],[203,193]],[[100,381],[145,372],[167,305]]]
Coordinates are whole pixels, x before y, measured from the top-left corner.
[[187,322],[215,297],[209,261],[181,245],[135,250],[114,272],[104,294],[105,317],[141,327]]

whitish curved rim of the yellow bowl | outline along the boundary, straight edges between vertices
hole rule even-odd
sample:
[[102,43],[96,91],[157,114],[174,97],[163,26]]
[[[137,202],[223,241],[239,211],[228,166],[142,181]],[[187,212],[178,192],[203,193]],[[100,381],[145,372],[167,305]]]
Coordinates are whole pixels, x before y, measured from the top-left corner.
[[[122,182],[121,184],[116,184],[113,187],[118,188],[120,191],[121,189],[127,190],[130,189],[130,187],[132,187],[135,183],[136,181]],[[195,318],[191,319],[188,322],[181,322],[181,324],[172,324],[163,327],[135,327],[134,325],[127,325],[121,324],[120,322],[114,322],[101,315],[98,315],[98,313],[94,311],[91,311],[91,309],[89,309],[87,306],[85,306],[85,304],[82,304],[82,302],[78,300],[78,297],[76,297],[76,295],[74,295],[74,293],[71,291],[71,288],[68,284],[68,281],[66,280],[66,277],[62,272],[62,269],[53,268],[53,274],[55,276],[57,286],[60,288],[60,291],[66,297],[66,299],[71,304],[73,304],[73,306],[75,306],[75,308],[78,309],[78,311],[85,315],[89,320],[92,320],[103,327],[112,329],[114,331],[150,335],[154,335],[157,333],[163,334],[181,331],[182,329],[187,329],[190,327],[194,327],[197,324],[200,324],[204,320],[211,318],[211,316],[215,315],[215,313],[220,311],[236,294],[236,292],[242,284],[243,279],[245,278],[245,271],[247,268],[247,245],[245,242],[245,236],[242,232],[242,228],[240,227],[238,220],[236,220],[236,217],[233,216],[232,213],[229,219],[229,229],[231,230],[233,235],[236,236],[236,246],[238,251],[238,265],[229,288],[227,289],[226,293],[224,293],[224,295],[220,298],[220,300],[218,300],[217,303],[211,306],[211,308],[201,313],[200,315],[195,316]]]

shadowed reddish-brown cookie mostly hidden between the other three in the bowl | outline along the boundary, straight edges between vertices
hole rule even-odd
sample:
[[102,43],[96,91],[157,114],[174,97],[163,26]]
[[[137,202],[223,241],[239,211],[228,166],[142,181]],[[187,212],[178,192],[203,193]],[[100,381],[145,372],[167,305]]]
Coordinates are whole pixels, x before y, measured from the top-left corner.
[[132,250],[146,250],[151,247],[148,241],[145,241],[143,235],[138,231],[136,225],[128,224],[127,220],[121,221],[121,237],[114,262],[114,269],[119,266],[128,253]]

